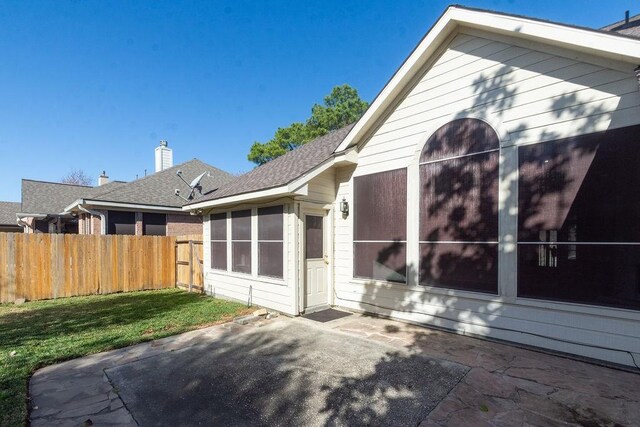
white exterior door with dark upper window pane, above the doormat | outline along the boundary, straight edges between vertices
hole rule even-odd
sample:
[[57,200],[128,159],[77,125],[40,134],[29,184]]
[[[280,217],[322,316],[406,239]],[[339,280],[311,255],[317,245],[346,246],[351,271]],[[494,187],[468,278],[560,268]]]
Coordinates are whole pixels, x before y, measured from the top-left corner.
[[304,308],[327,305],[328,264],[327,239],[325,237],[325,216],[305,215],[304,220],[304,263],[305,289]]

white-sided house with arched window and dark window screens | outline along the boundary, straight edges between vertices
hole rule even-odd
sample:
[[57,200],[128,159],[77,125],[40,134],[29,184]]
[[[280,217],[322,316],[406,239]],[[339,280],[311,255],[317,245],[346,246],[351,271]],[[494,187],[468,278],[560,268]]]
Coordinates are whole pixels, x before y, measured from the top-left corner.
[[207,292],[640,363],[638,64],[630,37],[448,8],[353,127],[185,206]]

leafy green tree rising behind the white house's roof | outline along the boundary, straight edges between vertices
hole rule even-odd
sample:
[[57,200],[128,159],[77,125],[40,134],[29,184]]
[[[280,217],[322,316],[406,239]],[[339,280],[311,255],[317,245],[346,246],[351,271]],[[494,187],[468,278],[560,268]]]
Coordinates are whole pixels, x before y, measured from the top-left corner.
[[324,105],[311,107],[311,117],[306,122],[278,128],[267,142],[254,142],[247,158],[258,165],[267,163],[314,138],[357,121],[368,106],[356,89],[347,84],[336,86],[324,97]]

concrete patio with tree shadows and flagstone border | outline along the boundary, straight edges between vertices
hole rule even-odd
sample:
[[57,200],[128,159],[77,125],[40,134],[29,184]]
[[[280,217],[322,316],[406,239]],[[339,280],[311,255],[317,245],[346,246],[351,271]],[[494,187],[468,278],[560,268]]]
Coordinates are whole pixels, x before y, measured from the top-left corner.
[[32,425],[638,425],[640,375],[354,314],[227,324],[41,369]]

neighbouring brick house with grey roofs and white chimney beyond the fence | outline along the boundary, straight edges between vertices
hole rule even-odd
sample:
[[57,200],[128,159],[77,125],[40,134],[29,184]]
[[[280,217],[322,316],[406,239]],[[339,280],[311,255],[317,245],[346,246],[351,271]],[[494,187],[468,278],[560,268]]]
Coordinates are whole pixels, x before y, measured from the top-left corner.
[[184,212],[182,205],[215,191],[233,176],[198,159],[172,163],[172,153],[162,141],[156,148],[156,172],[132,182],[109,181],[104,172],[95,187],[23,179],[20,223],[28,233],[200,233],[202,217]]

